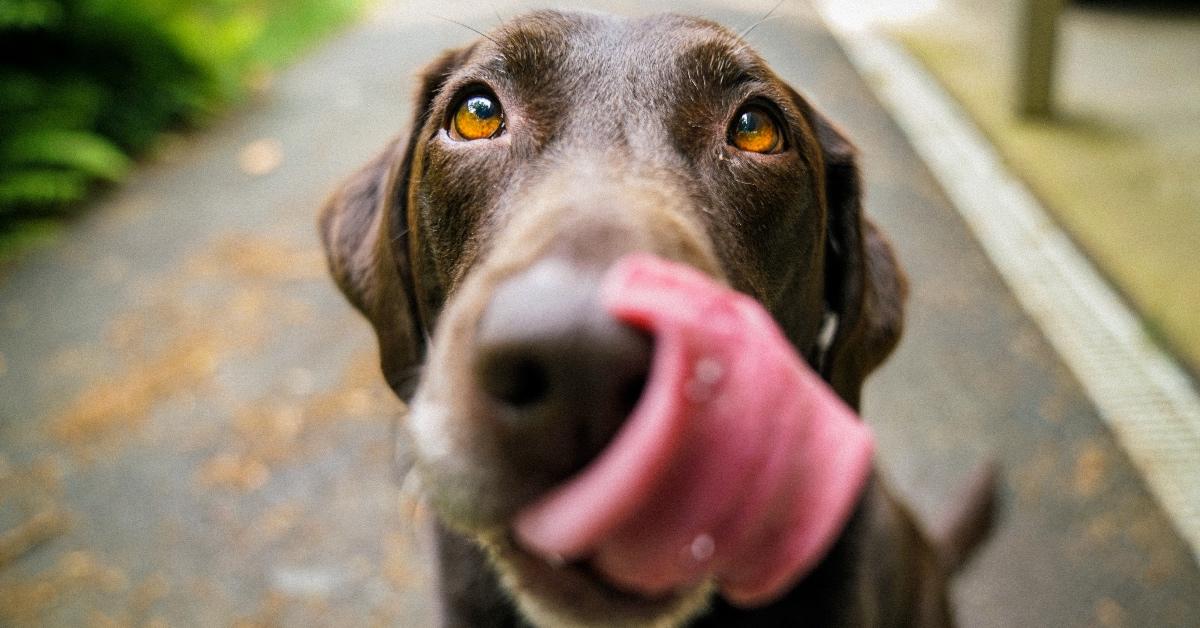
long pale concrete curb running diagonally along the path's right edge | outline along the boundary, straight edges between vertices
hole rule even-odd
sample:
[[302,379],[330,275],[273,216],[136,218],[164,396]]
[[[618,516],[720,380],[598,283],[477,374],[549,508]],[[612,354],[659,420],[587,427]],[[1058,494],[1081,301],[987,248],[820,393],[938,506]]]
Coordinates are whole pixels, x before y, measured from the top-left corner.
[[829,30],[1079,379],[1200,563],[1200,395],[937,82],[818,2]]

